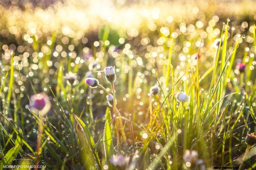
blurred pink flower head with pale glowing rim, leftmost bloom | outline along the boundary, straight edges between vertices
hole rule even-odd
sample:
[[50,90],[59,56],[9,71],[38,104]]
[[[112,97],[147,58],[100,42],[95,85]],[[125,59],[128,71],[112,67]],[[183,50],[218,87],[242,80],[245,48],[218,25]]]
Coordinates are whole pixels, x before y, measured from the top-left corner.
[[42,92],[30,97],[30,107],[35,109],[38,114],[45,115],[51,108],[51,102],[47,94]]

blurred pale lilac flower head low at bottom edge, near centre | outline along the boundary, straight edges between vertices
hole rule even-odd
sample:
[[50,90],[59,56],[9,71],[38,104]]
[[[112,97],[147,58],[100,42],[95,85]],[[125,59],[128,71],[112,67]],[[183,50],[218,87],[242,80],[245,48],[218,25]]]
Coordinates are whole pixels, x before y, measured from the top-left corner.
[[130,158],[123,154],[113,155],[109,162],[112,163],[117,169],[125,169],[128,166]]

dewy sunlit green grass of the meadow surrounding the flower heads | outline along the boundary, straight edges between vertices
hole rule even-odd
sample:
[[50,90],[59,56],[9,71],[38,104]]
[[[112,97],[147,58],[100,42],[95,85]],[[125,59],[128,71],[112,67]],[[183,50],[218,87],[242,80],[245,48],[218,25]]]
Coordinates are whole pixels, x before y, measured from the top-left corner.
[[[37,162],[44,169],[255,168],[256,141],[248,144],[248,135],[256,131],[256,27],[243,18],[222,25],[223,16],[209,26],[213,17],[204,15],[200,28],[197,19],[190,18],[184,32],[180,22],[156,20],[155,30],[141,26],[135,37],[130,29],[105,25],[100,40],[65,30],[49,30],[40,39],[22,29],[20,40],[3,31],[0,169]],[[217,38],[223,43],[214,48]],[[105,66],[115,66],[115,82],[106,81]],[[77,74],[74,85],[66,83],[70,71]],[[86,73],[100,85],[87,85]],[[156,95],[150,93],[154,85]],[[106,91],[113,93],[113,107]],[[51,102],[44,116],[28,106],[40,92]],[[190,100],[179,101],[178,92]],[[115,154],[124,155],[119,167]]]

